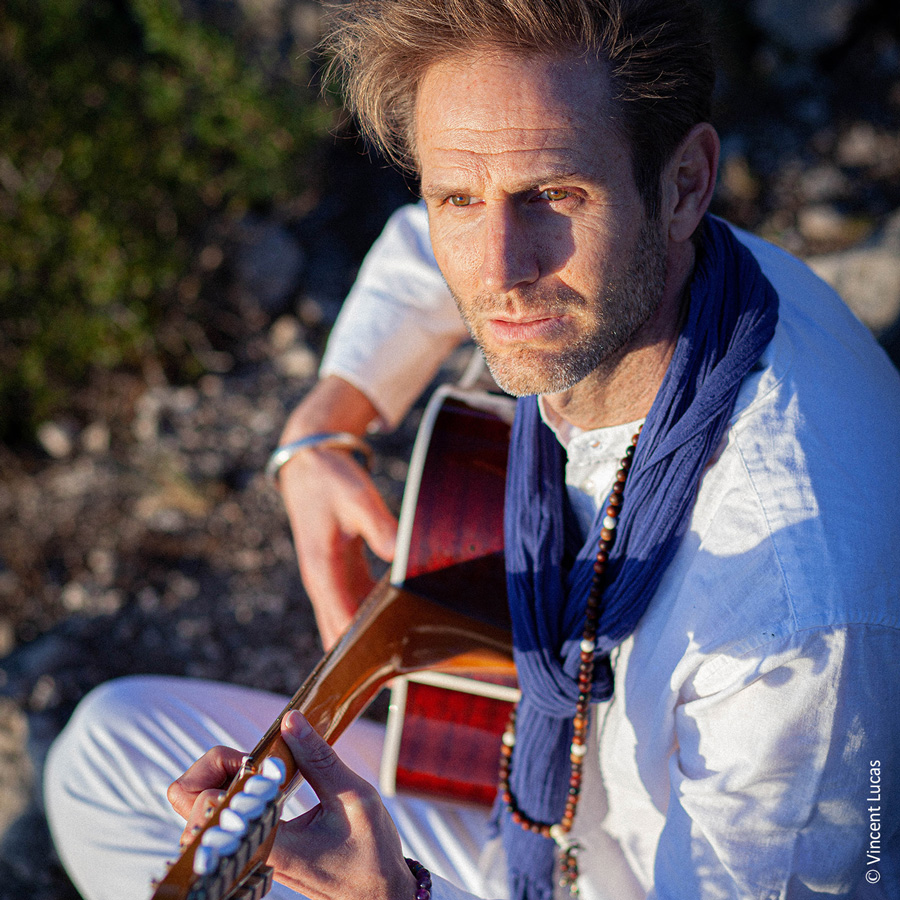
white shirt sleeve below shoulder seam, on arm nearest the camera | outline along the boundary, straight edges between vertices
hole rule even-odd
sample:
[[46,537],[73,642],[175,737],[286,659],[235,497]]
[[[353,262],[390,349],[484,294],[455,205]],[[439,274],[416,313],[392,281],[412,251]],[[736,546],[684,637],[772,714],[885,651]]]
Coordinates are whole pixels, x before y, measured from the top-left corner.
[[887,897],[857,891],[900,884],[900,701],[878,689],[898,652],[896,629],[854,625],[701,669],[676,710],[650,897]]

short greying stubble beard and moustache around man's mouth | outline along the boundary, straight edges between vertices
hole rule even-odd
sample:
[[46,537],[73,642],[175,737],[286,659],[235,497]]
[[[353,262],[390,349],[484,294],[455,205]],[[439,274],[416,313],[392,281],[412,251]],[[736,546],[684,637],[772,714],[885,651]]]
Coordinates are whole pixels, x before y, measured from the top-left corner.
[[[592,327],[558,351],[522,345],[496,352],[484,340],[480,322],[458,297],[454,298],[494,380],[514,397],[525,397],[567,391],[593,372],[610,366],[659,308],[665,282],[665,238],[658,222],[645,221],[630,264],[618,282],[607,285],[603,298],[587,298],[566,286],[523,293],[523,305],[548,316],[574,312],[582,318],[584,311],[592,312]],[[492,308],[502,312],[501,302],[491,296],[479,297],[474,309],[480,314]]]

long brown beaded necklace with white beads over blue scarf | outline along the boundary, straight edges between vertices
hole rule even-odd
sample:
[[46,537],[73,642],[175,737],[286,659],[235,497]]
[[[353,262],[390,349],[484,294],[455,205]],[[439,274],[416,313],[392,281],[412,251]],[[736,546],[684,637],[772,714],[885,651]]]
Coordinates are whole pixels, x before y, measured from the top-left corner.
[[518,808],[510,785],[512,773],[513,748],[516,744],[516,709],[513,708],[509,715],[506,731],[503,733],[500,747],[500,778],[499,791],[501,800],[506,807],[510,818],[516,825],[525,831],[531,831],[542,837],[552,838],[560,849],[560,887],[568,888],[572,894],[578,893],[578,843],[569,838],[572,823],[575,821],[575,811],[578,808],[578,798],[581,795],[582,768],[584,757],[587,753],[587,733],[590,724],[591,685],[594,681],[594,651],[597,648],[597,625],[600,622],[600,607],[603,598],[603,576],[606,573],[606,565],[609,561],[609,551],[612,548],[616,536],[619,511],[622,508],[622,497],[625,492],[625,482],[628,480],[628,470],[631,468],[631,460],[637,446],[638,433],[631,439],[631,443],[625,450],[625,456],[619,462],[616,479],[613,483],[612,493],[609,495],[603,528],[600,531],[597,556],[594,560],[594,577],[585,608],[584,630],[581,637],[581,663],[578,667],[578,700],[575,704],[575,716],[573,717],[572,744],[569,748],[569,793],[566,798],[566,809],[559,822],[550,824],[536,822],[529,818]]

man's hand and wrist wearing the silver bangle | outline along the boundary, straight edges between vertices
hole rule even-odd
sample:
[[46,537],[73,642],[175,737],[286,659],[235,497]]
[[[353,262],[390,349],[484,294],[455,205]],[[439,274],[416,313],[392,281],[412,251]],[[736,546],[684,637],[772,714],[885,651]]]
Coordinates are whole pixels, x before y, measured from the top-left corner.
[[[376,416],[363,393],[329,376],[291,414],[280,443],[322,431],[362,435]],[[300,574],[327,650],[374,585],[363,544],[381,559],[393,559],[397,520],[368,473],[345,450],[303,450],[282,466],[278,481]]]

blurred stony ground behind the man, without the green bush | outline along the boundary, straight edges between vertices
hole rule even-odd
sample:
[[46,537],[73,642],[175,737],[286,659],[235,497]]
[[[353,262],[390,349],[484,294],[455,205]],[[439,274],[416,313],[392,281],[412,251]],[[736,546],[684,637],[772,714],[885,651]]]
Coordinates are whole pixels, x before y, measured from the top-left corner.
[[[798,26],[786,38],[782,18],[765,19],[772,4],[755,6],[752,52],[723,69],[717,211],[808,257],[900,360],[897,13],[837,3],[858,15],[836,33]],[[799,46],[798,34],[819,43]],[[210,315],[231,335],[206,353],[205,375],[177,385],[154,370],[99,373],[38,445],[0,447],[0,898],[78,896],[37,786],[87,690],[162,672],[293,693],[318,658],[260,471],[312,383],[361,248],[405,196],[346,148],[326,171],[335,189],[302,219],[247,221],[203,251],[223,273]],[[395,508],[414,430],[415,415],[375,442]]]

